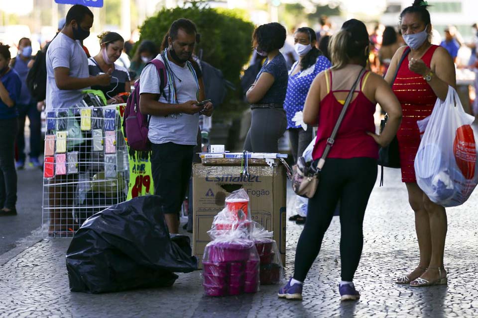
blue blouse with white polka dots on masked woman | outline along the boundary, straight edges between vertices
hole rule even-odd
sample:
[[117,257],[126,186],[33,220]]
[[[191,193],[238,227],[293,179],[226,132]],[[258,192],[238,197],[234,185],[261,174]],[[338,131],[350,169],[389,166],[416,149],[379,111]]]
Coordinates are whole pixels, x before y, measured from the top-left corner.
[[[295,62],[289,71],[289,75],[294,71],[299,61]],[[297,66],[300,67],[300,66]],[[308,69],[302,70],[293,76],[289,76],[287,85],[287,94],[285,96],[284,109],[287,114],[287,129],[300,128],[296,125],[292,118],[295,113],[304,109],[305,98],[309,92],[310,85],[317,74],[331,67],[330,61],[323,55],[317,58],[314,65]]]

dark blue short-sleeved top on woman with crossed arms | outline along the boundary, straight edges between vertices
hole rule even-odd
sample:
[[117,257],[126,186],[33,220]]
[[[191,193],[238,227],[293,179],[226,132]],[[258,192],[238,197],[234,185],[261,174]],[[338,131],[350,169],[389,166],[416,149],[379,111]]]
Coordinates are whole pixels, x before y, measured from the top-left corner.
[[270,62],[266,59],[255,79],[257,80],[264,72],[274,77],[274,83],[256,104],[283,104],[289,78],[284,56],[279,53]]

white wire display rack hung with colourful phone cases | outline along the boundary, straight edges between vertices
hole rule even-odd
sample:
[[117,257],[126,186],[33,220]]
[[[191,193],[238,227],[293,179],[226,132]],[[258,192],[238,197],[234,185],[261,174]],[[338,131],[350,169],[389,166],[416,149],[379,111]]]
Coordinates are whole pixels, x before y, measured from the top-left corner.
[[126,200],[129,162],[119,107],[47,112],[43,237],[71,238],[90,216]]

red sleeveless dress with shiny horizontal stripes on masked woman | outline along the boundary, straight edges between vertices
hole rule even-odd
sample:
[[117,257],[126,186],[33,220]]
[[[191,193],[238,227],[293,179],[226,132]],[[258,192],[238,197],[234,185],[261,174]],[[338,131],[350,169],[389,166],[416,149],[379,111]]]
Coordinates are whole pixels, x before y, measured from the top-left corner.
[[[437,48],[437,45],[432,45],[422,57],[429,68]],[[392,90],[402,105],[403,112],[397,133],[402,182],[417,182],[414,168],[415,156],[420,146],[417,121],[431,115],[437,96],[421,75],[408,69],[408,58],[403,60]]]

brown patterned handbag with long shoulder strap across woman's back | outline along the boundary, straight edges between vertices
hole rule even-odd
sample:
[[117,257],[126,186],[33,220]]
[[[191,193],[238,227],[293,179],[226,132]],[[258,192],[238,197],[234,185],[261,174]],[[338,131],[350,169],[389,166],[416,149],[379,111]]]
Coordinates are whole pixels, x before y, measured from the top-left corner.
[[304,157],[299,157],[299,159],[297,159],[297,164],[292,167],[292,190],[294,190],[297,195],[309,199],[315,195],[315,192],[317,191],[317,186],[319,184],[320,171],[324,166],[325,159],[327,158],[327,155],[329,155],[330,149],[334,145],[335,136],[337,135],[337,132],[340,128],[340,124],[345,117],[345,112],[347,111],[347,108],[349,107],[349,104],[352,100],[355,88],[357,87],[357,84],[359,83],[359,80],[364,73],[365,69],[362,69],[360,71],[359,77],[355,80],[355,83],[352,86],[349,95],[347,95],[347,99],[345,100],[344,107],[342,107],[339,119],[337,119],[337,123],[335,124],[334,130],[332,131],[330,138],[327,139],[327,146],[325,147],[324,153],[319,159],[317,165],[314,165],[315,161],[306,162]]

